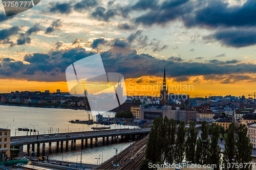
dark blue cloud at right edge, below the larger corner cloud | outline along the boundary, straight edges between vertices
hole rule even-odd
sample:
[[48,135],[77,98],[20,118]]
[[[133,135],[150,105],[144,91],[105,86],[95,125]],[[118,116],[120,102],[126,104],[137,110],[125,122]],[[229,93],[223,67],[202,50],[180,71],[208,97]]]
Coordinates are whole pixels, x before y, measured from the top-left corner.
[[256,44],[256,30],[255,29],[229,29],[217,31],[203,37],[203,40],[217,40],[222,45],[228,47],[245,47]]

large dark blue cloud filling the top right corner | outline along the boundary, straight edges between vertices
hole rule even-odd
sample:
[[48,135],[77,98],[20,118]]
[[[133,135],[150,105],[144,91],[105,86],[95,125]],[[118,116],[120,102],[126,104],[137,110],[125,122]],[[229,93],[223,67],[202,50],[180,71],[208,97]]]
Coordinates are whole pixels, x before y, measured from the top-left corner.
[[245,27],[255,26],[256,3],[247,0],[242,6],[228,6],[221,0],[205,1],[193,14],[183,17],[186,27]]

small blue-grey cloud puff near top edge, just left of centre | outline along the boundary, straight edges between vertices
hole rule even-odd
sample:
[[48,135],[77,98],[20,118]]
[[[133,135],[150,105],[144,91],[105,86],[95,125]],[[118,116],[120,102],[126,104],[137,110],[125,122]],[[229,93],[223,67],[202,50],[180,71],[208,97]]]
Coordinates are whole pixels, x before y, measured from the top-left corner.
[[97,20],[109,21],[115,14],[113,9],[106,10],[104,7],[97,7],[91,15]]

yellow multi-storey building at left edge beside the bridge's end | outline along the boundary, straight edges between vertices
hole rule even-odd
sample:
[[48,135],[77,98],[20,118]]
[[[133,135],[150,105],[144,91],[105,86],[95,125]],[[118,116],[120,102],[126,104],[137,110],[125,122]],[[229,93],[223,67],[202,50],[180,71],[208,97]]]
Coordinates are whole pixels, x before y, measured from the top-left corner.
[[9,158],[11,143],[11,130],[0,128],[0,159]]

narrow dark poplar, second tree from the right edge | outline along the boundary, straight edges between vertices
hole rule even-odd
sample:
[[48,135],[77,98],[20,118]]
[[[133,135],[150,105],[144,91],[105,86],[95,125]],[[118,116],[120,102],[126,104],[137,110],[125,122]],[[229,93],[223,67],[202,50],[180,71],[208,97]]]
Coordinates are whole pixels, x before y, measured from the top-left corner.
[[227,137],[225,138],[225,149],[223,153],[224,169],[232,169],[232,166],[228,167],[227,164],[235,163],[234,158],[236,156],[236,126],[232,122],[227,129]]

